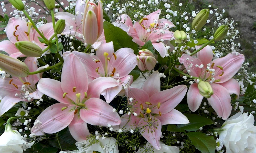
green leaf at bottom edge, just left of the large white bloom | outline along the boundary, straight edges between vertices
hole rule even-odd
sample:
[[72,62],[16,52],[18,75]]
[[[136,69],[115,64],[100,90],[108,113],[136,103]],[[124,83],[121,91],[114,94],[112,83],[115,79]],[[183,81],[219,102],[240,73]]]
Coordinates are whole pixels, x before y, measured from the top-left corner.
[[192,144],[202,153],[215,153],[216,142],[214,136],[209,136],[201,132],[185,133],[189,136]]

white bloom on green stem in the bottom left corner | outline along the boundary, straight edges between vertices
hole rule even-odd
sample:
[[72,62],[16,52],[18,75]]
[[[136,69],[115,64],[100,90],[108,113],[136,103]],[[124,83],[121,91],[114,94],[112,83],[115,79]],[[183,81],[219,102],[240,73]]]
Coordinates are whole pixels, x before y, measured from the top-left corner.
[[18,131],[12,130],[10,124],[6,124],[5,132],[0,136],[0,152],[4,153],[22,153],[23,149],[30,148],[33,143],[27,143],[21,139]]

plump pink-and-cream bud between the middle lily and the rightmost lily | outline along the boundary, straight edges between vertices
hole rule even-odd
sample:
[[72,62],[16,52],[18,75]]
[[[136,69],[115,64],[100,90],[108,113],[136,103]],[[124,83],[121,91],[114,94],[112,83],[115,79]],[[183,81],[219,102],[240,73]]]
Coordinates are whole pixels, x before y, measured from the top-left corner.
[[156,59],[154,58],[153,53],[150,50],[142,49],[139,50],[137,55],[137,65],[141,71],[151,71],[156,65]]

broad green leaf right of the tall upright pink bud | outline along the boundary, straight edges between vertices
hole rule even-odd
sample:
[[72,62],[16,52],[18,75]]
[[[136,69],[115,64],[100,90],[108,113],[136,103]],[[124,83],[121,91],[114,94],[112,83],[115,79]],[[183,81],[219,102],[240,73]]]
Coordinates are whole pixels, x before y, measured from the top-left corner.
[[103,23],[103,29],[106,42],[113,41],[115,51],[124,47],[131,48],[134,52],[138,50],[138,45],[132,41],[132,37],[128,36],[128,34],[119,27],[105,21]]

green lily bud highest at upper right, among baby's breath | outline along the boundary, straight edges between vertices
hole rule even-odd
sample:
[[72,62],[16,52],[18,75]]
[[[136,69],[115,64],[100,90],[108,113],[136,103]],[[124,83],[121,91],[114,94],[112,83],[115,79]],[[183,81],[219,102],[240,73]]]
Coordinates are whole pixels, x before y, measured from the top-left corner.
[[195,29],[195,30],[200,30],[206,23],[206,21],[208,20],[209,18],[209,9],[208,8],[205,8],[205,9],[202,9],[197,15],[196,17],[194,18],[191,26],[192,26],[192,29]]

